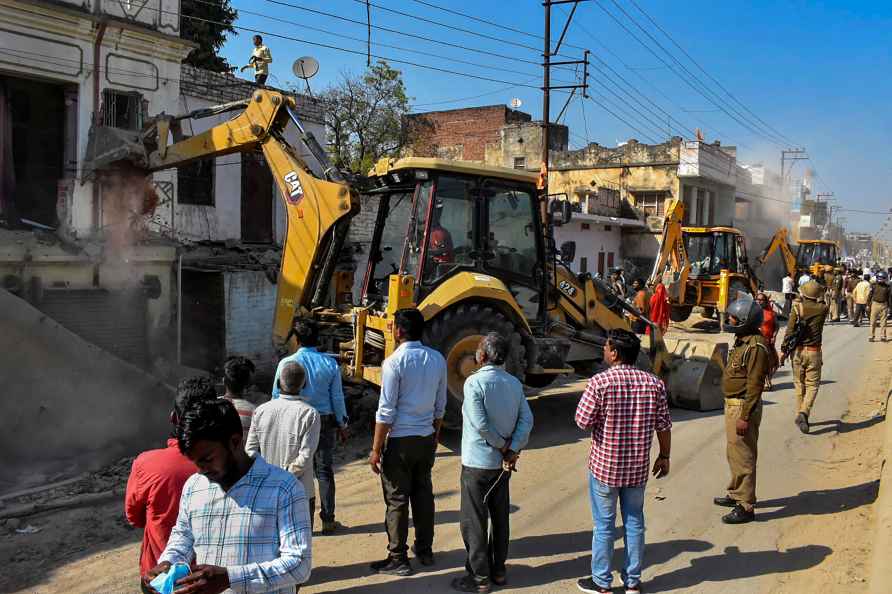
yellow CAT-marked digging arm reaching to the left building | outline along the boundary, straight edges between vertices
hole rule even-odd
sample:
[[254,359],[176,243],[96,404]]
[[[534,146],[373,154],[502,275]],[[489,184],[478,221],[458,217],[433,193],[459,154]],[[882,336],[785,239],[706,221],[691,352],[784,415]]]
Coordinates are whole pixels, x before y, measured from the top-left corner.
[[[185,138],[180,121],[241,110],[231,120],[206,132]],[[301,155],[285,140],[293,123],[309,154],[319,163],[326,180],[310,170]],[[168,143],[169,136],[174,142]],[[359,198],[333,168],[325,151],[304,130],[293,97],[260,89],[249,98],[200,109],[182,116],[161,115],[142,135],[142,154],[125,158],[147,172],[181,167],[198,159],[262,150],[285,206],[286,234],[279,270],[273,340],[285,343],[296,313],[322,304],[349,220],[359,211]],[[131,151],[134,146],[128,147]],[[137,152],[139,150],[137,149]],[[113,153],[120,158],[120,153]]]

